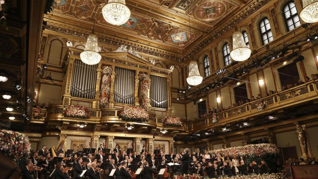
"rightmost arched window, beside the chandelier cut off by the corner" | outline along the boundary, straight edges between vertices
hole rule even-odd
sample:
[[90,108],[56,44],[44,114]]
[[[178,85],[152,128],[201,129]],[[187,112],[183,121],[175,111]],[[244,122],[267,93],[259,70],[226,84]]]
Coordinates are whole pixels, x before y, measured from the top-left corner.
[[283,11],[288,31],[291,31],[301,25],[297,9],[293,1],[289,1],[288,3],[286,3]]

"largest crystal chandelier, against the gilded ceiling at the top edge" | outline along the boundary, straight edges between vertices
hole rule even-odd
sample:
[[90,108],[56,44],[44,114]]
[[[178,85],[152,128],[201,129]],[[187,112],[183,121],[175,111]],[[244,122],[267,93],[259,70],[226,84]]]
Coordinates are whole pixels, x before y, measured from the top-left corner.
[[130,10],[125,0],[108,0],[102,9],[104,19],[112,25],[125,24],[130,17]]

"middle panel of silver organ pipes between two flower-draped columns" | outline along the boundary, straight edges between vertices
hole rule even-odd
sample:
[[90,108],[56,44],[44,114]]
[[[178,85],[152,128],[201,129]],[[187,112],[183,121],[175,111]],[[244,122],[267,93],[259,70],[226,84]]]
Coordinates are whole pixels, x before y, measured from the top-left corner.
[[135,71],[115,68],[114,102],[134,104],[135,101]]

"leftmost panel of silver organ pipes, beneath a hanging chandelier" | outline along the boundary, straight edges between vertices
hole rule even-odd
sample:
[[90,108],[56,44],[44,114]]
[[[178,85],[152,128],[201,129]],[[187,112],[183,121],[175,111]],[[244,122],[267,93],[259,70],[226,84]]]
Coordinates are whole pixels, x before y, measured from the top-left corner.
[[87,65],[81,60],[75,60],[70,94],[72,97],[94,99],[96,89],[96,65]]

